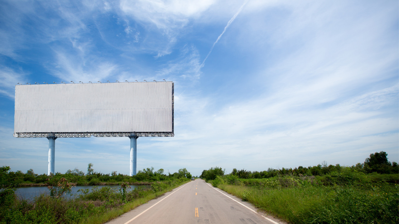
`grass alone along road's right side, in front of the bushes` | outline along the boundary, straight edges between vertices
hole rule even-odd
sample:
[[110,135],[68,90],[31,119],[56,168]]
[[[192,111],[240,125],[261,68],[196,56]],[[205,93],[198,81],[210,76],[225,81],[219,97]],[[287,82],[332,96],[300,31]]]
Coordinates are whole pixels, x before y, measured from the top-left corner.
[[398,223],[398,185],[306,186],[277,189],[217,187],[294,224]]

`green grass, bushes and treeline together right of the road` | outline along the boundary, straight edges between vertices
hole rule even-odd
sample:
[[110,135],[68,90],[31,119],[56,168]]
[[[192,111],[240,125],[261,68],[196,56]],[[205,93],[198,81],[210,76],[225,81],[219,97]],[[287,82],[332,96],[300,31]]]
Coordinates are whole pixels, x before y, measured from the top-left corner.
[[380,151],[350,167],[324,161],[261,172],[233,169],[229,175],[212,167],[200,177],[291,223],[397,224],[398,173],[398,163]]

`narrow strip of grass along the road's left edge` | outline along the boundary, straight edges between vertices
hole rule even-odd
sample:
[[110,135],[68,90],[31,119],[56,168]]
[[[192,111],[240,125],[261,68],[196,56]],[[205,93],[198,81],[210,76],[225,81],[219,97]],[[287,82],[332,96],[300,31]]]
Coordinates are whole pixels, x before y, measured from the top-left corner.
[[120,216],[130,210],[133,210],[134,208],[136,208],[142,204],[145,204],[148,201],[150,201],[158,196],[161,196],[161,195],[167,193],[168,191],[171,191],[171,190],[173,190],[179,186],[182,186],[188,182],[190,182],[190,181],[184,181],[174,187],[170,187],[163,191],[152,193],[150,195],[146,195],[143,198],[138,198],[130,203],[124,204],[123,206],[121,206],[119,208],[113,208],[113,209],[108,210],[107,212],[104,212],[101,214],[95,214],[93,216],[90,216],[86,220],[82,220],[81,222],[79,222],[79,224],[103,224],[105,222],[108,222],[111,219],[117,218],[118,216]]

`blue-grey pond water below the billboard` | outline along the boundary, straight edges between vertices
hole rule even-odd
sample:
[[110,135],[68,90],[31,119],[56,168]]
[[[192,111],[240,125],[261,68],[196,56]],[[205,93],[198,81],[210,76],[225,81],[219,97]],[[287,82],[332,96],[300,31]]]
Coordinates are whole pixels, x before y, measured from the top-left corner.
[[[80,192],[77,192],[79,189],[91,189],[94,186],[76,186],[72,188],[71,193],[72,194],[80,194]],[[98,188],[101,187],[110,187],[111,189],[119,190],[120,186],[119,185],[98,185],[96,186]],[[133,189],[136,189],[138,187],[150,187],[150,185],[130,185],[131,189],[126,189],[127,191],[131,191]],[[24,199],[33,199],[36,196],[39,196],[43,193],[50,193],[49,189],[47,187],[18,187],[18,189],[15,191],[15,194]]]

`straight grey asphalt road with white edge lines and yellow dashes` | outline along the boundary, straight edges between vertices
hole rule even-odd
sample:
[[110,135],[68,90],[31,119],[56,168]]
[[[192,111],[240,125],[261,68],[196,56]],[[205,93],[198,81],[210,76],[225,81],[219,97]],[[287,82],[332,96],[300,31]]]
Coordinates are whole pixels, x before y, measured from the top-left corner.
[[277,224],[251,204],[196,179],[111,220],[110,224]]

